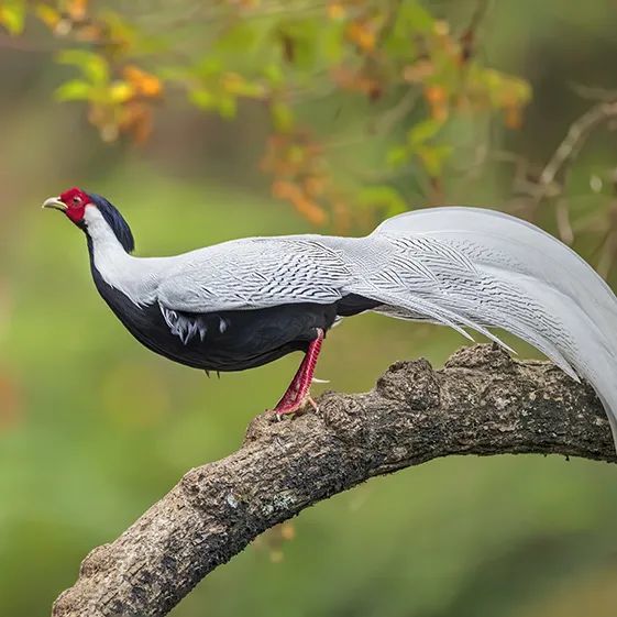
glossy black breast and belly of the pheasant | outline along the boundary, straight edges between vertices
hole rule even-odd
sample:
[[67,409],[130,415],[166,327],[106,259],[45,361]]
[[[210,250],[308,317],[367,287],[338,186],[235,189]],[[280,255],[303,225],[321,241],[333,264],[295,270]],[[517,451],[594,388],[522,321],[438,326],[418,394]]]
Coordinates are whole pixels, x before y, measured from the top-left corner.
[[[256,310],[181,313],[199,320],[206,332],[188,340],[174,334],[158,304],[137,307],[92,269],[97,288],[125,328],[150,350],[180,364],[206,371],[243,371],[273,362],[294,351],[306,351],[318,328],[328,332],[338,316],[374,308],[377,302],[346,296],[330,305],[301,302]],[[221,327],[224,323],[224,327]]]

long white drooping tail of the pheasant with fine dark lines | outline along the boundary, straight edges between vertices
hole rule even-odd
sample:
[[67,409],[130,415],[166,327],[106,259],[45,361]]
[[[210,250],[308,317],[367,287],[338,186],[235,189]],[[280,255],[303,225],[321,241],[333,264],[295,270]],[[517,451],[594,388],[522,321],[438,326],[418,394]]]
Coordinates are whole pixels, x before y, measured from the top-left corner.
[[514,217],[459,207],[400,214],[365,241],[376,266],[350,291],[396,317],[516,334],[588,381],[617,436],[617,298],[574,251]]

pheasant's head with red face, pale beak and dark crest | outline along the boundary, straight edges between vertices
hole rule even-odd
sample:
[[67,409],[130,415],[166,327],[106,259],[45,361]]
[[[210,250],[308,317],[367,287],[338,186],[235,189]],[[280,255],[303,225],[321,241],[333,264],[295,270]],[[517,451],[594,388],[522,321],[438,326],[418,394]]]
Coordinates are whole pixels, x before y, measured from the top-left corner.
[[128,253],[134,249],[135,243],[129,224],[118,209],[100,195],[86,192],[74,187],[57,197],[45,199],[43,208],[52,208],[64,212],[90,238],[97,225],[107,223]]

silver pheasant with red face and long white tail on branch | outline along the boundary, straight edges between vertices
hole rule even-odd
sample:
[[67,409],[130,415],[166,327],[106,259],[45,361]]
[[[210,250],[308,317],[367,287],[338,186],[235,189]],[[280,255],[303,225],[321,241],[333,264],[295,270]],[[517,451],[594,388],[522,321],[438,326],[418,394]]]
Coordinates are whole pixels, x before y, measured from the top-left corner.
[[572,249],[521,219],[444,206],[395,216],[362,238],[256,236],[139,257],[104,197],[74,187],[43,208],[85,233],[99,294],[153,352],[206,372],[302,352],[274,407],[279,418],[315,405],[310,386],[330,329],[372,311],[467,339],[475,331],[508,351],[494,330],[510,332],[587,381],[617,436],[617,298]]

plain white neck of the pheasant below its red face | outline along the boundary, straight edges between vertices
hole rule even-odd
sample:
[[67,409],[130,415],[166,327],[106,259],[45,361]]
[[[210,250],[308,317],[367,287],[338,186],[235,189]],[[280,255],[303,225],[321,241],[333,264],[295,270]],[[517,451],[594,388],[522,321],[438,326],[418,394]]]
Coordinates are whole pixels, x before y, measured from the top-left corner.
[[154,302],[169,258],[140,258],[126,253],[96,206],[86,206],[84,221],[92,242],[93,265],[102,279],[137,306]]

